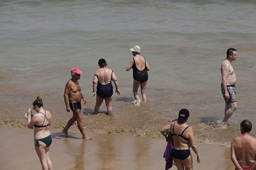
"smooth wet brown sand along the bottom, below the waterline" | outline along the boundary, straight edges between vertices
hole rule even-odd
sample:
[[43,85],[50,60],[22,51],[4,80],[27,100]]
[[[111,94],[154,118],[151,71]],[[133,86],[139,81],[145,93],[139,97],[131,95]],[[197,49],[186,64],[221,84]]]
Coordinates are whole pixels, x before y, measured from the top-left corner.
[[[34,129],[0,127],[1,169],[41,169],[34,149]],[[50,158],[53,169],[165,169],[164,139],[123,134],[98,134],[86,130],[92,140],[83,140],[77,128],[69,129],[66,138],[60,128],[51,128]],[[197,143],[201,163],[194,169],[234,169],[230,148]],[[171,169],[177,169],[175,166]]]

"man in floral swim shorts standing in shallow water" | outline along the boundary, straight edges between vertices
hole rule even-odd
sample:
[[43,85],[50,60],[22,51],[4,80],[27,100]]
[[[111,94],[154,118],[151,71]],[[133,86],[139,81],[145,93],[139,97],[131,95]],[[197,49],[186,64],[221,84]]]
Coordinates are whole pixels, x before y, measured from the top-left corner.
[[229,48],[227,50],[227,58],[221,64],[221,92],[226,102],[225,105],[225,117],[222,122],[229,124],[229,118],[237,109],[236,100],[236,82],[237,78],[235,75],[235,69],[231,65],[232,61],[237,58],[237,50],[234,48]]

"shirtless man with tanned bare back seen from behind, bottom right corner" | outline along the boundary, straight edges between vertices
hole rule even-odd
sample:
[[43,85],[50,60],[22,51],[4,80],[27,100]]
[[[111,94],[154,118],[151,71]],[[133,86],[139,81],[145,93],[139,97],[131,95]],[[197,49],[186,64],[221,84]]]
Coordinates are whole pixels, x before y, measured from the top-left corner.
[[231,143],[231,160],[236,166],[235,170],[256,169],[256,138],[250,135],[252,123],[243,120],[240,124],[242,135],[235,137]]

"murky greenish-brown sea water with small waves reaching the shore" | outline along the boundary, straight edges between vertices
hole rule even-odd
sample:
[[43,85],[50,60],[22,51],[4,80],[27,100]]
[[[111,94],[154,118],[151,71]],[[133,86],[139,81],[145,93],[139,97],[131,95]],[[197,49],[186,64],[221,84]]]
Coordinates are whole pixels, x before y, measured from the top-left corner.
[[[70,70],[78,67],[88,101],[82,108],[85,129],[162,138],[159,130],[187,108],[196,141],[230,146],[244,119],[256,136],[255,7],[254,1],[231,0],[1,1],[1,125],[25,126],[24,115],[40,95],[53,126],[65,126],[72,113],[65,110],[64,88]],[[138,106],[132,71],[125,71],[135,45],[150,66],[147,103]],[[238,109],[230,126],[223,126],[220,65],[230,47],[238,50],[232,62]],[[113,98],[111,117],[104,114],[104,103],[102,114],[92,115],[100,58],[114,70],[122,93]]]

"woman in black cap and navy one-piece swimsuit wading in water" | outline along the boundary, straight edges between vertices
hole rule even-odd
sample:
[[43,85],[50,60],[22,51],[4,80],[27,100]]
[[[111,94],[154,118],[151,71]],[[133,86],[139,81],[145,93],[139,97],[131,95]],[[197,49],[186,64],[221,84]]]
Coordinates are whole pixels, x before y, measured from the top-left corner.
[[97,114],[101,103],[103,102],[103,99],[105,100],[106,106],[107,106],[107,111],[108,115],[112,114],[112,98],[113,98],[113,86],[112,86],[112,80],[115,83],[115,93],[117,95],[120,95],[121,92],[118,89],[118,80],[115,76],[115,73],[113,70],[106,68],[107,62],[105,59],[100,59],[98,62],[98,66],[100,67],[99,70],[97,70],[94,73],[94,78],[93,78],[93,91],[92,91],[92,98],[95,96],[95,91],[96,91],[96,104],[94,107],[94,114]]

